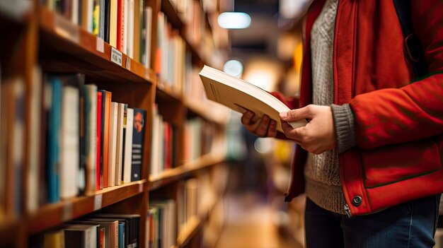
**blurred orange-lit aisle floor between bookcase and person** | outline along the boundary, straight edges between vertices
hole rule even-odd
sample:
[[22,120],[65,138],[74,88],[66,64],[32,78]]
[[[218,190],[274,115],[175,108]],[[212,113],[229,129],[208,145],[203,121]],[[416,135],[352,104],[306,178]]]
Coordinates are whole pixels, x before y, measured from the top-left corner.
[[300,248],[279,234],[276,213],[260,196],[228,194],[225,204],[226,223],[216,248]]

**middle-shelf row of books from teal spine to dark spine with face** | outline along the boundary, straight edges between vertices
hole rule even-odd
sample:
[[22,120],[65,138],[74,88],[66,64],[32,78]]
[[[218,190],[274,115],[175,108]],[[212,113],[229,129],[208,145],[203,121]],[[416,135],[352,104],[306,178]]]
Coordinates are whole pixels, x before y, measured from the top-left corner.
[[81,74],[46,74],[47,201],[141,179],[146,111],[112,102]]

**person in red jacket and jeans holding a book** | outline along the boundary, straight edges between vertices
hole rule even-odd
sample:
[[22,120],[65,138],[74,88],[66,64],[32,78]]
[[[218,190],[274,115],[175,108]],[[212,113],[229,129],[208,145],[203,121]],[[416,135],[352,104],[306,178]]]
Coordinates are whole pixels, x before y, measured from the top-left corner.
[[[427,75],[415,81],[393,1],[316,0],[299,101],[242,124],[297,143],[287,201],[306,194],[306,247],[433,247],[443,192],[443,1],[411,1]],[[406,52],[405,52],[406,51]],[[285,122],[309,119],[292,129]]]

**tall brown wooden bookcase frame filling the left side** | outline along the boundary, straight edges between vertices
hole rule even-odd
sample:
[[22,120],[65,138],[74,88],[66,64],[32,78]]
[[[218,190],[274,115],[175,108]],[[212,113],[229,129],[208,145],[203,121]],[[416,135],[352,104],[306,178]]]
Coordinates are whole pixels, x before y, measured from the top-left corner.
[[[202,11],[200,15],[204,18],[200,23],[202,25],[196,26],[202,27],[202,30],[199,30],[200,33],[210,36],[213,30],[207,19],[209,13],[205,13],[200,1],[196,0],[122,1],[134,3],[139,6],[140,10],[148,6],[151,7],[151,31],[146,34],[146,44],[149,42],[151,44],[149,47],[151,54],[147,57],[150,66],[146,66],[146,61],[141,59],[142,56],[139,57],[137,54],[129,52],[129,48],[126,51],[116,49],[115,46],[110,45],[110,42],[105,42],[90,30],[86,30],[84,26],[74,23],[67,16],[67,12],[61,13],[57,6],[50,6],[50,3],[54,2],[52,0],[24,1],[26,2],[25,8],[16,4],[15,1],[0,4],[0,31],[4,34],[0,37],[0,90],[8,90],[5,81],[11,80],[11,78],[20,78],[20,80],[15,80],[23,81],[23,105],[17,105],[18,107],[22,106],[20,110],[22,111],[23,126],[17,127],[15,120],[12,120],[12,124],[0,123],[3,129],[1,134],[13,133],[8,134],[8,137],[17,137],[13,136],[16,134],[15,131],[21,131],[21,136],[19,136],[21,138],[14,143],[12,148],[15,149],[13,151],[20,150],[20,153],[14,153],[18,154],[18,157],[13,158],[12,155],[7,155],[5,159],[1,160],[0,165],[1,172],[9,173],[12,170],[12,162],[18,160],[21,164],[18,175],[11,172],[11,175],[14,176],[14,184],[6,185],[5,183],[0,187],[0,247],[30,247],[35,245],[35,240],[44,237],[52,230],[59,230],[69,221],[84,220],[84,218],[89,218],[91,214],[96,216],[94,214],[97,213],[139,215],[138,246],[149,247],[151,226],[149,221],[146,221],[146,216],[152,207],[151,202],[172,199],[176,201],[173,211],[177,214],[180,212],[180,206],[185,206],[183,205],[185,203],[180,202],[180,197],[188,197],[188,195],[178,195],[185,190],[184,187],[191,184],[192,180],[200,187],[207,186],[210,190],[205,190],[204,193],[206,196],[211,194],[206,198],[212,200],[202,202],[202,199],[205,198],[203,193],[197,191],[192,193],[202,195],[192,196],[195,213],[192,215],[187,213],[187,219],[183,220],[183,226],[179,227],[177,223],[174,223],[172,227],[168,227],[176,230],[171,247],[196,247],[197,244],[203,242],[203,229],[207,225],[212,210],[216,208],[217,199],[220,199],[224,193],[224,182],[222,181],[227,177],[224,165],[226,155],[224,125],[229,116],[227,112],[217,110],[214,106],[209,105],[204,98],[195,98],[193,95],[188,95],[185,90],[185,85],[190,81],[196,83],[196,68],[203,64],[212,64],[214,67],[220,65],[212,63],[211,59],[208,59],[208,55],[202,53],[201,48],[204,44],[190,39],[192,36],[189,31],[192,30],[190,25],[196,24],[185,20],[185,13],[178,11],[178,5],[182,5],[182,8],[183,4],[199,8]],[[89,1],[73,0],[69,2],[87,3]],[[59,1],[59,3],[65,3],[65,1]],[[197,6],[198,4],[200,7]],[[83,13],[83,10],[79,11]],[[214,13],[214,11],[211,12]],[[69,15],[74,15],[74,13],[76,13],[74,8],[69,10]],[[176,61],[176,63],[183,64],[183,71],[178,72],[183,73],[183,76],[174,77],[178,78],[177,80],[171,81],[171,78],[166,80],[166,73],[156,70],[156,62],[159,61],[159,57],[155,51],[161,46],[161,43],[158,42],[159,18],[157,17],[159,13],[163,13],[167,23],[170,23],[168,25],[176,30],[174,32],[178,35],[178,40],[181,39],[183,42],[184,49],[178,49],[179,52],[183,52],[182,57]],[[130,42],[128,41],[127,44]],[[142,43],[139,46],[142,49]],[[214,47],[211,47],[207,50],[213,49]],[[215,49],[217,49],[219,58],[214,61],[223,61],[227,54],[227,46]],[[141,50],[140,53],[142,54]],[[185,64],[188,67],[185,67]],[[188,73],[192,69],[194,75],[189,79]],[[36,73],[36,71],[38,72]],[[132,182],[94,189],[92,193],[84,192],[76,196],[62,197],[52,203],[46,199],[46,191],[45,194],[40,194],[40,192],[38,196],[35,196],[37,197],[35,199],[33,195],[35,185],[39,187],[40,191],[42,190],[40,189],[41,185],[50,186],[47,186],[45,181],[47,179],[46,170],[49,170],[46,163],[38,162],[36,164],[35,161],[33,162],[33,158],[47,160],[46,148],[49,146],[47,138],[38,139],[42,143],[37,143],[35,146],[37,142],[35,136],[47,136],[45,134],[47,131],[44,127],[36,131],[34,126],[35,122],[38,122],[40,126],[40,124],[49,125],[47,123],[50,121],[47,120],[48,117],[40,114],[40,104],[43,105],[45,97],[35,100],[35,95],[39,94],[33,92],[38,90],[38,92],[42,92],[42,95],[46,94],[45,83],[48,79],[45,77],[72,76],[78,73],[83,76],[86,85],[93,83],[98,90],[112,93],[113,101],[146,111],[143,149],[141,150],[143,155],[142,173],[139,175],[139,179],[131,180]],[[80,99],[80,102],[83,101],[83,98]],[[35,105],[35,101],[40,102]],[[1,103],[1,110],[6,109],[5,103]],[[151,141],[155,133],[152,118],[154,105],[157,106],[162,118],[173,126],[174,131],[174,139],[171,142],[171,147],[174,150],[173,158],[171,158],[173,167],[162,170],[158,175],[150,173],[151,167],[155,166],[151,160],[154,149]],[[79,106],[83,107],[83,105]],[[35,114],[35,110],[38,110],[37,114]],[[82,114],[79,110],[79,118],[86,117],[86,114]],[[3,115],[1,117],[4,118]],[[188,123],[196,119],[197,126],[202,127],[202,131],[198,134],[198,142],[201,141],[201,143],[195,148],[197,151],[191,152],[196,156],[188,158],[186,149],[193,146],[192,143],[197,142],[192,138],[187,138],[188,126],[192,125]],[[80,122],[84,122],[84,120],[80,119]],[[86,127],[77,127],[79,134],[81,134],[81,130],[86,130]],[[40,131],[42,134],[39,134]],[[4,136],[2,136],[3,138]],[[79,142],[86,141],[80,140]],[[6,138],[1,143],[7,144]],[[6,146],[3,145],[1,149],[3,149],[0,153],[2,155],[8,154],[10,151],[8,150],[10,148],[6,149]],[[36,152],[40,154],[38,157],[35,157]],[[80,153],[81,150],[77,152]],[[63,164],[57,166],[63,166]],[[88,172],[79,171],[78,173],[79,177],[84,176],[86,181],[92,180],[91,175],[87,174]],[[218,179],[216,179],[216,174]],[[224,175],[224,177],[219,177],[219,175]],[[42,178],[45,178],[44,183]],[[94,183],[98,182],[96,179],[93,180],[95,180]],[[15,194],[8,195],[8,187],[11,185],[21,185],[21,187],[17,189]],[[6,207],[6,205],[13,205],[17,199],[20,203],[16,209],[11,211]]]

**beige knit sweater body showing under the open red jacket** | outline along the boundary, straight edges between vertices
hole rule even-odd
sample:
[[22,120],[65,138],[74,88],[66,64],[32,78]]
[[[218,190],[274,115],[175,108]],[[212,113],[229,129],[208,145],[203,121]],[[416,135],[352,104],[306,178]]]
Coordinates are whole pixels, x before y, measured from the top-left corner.
[[[314,105],[329,106],[334,101],[333,40],[337,6],[338,0],[326,0],[311,30]],[[338,150],[328,150],[320,155],[309,153],[304,174],[309,199],[328,211],[345,214]]]

